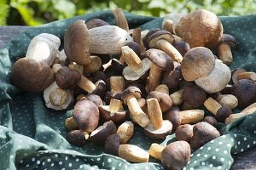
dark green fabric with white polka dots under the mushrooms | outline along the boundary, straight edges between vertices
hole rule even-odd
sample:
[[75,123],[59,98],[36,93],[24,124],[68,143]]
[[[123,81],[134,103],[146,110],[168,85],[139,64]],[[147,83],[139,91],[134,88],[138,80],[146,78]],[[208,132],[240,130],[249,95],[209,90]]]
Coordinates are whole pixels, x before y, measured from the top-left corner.
[[[131,28],[143,30],[160,28],[162,18],[125,13]],[[111,11],[84,14],[72,19],[60,20],[44,26],[33,27],[15,37],[6,48],[0,49],[0,169],[164,169],[160,161],[150,158],[148,163],[129,163],[119,157],[103,153],[103,148],[88,141],[83,148],[69,144],[65,139],[64,121],[72,116],[72,110],[57,112],[44,105],[41,93],[20,91],[9,82],[12,65],[26,55],[32,37],[47,32],[63,41],[63,35],[74,20],[100,18],[111,25],[115,20]],[[236,37],[238,47],[233,51],[231,69],[243,67],[256,71],[256,15],[220,17],[224,32]],[[63,43],[61,43],[63,48]],[[238,111],[237,111],[238,112]],[[256,145],[256,114],[244,116],[227,126],[219,124],[224,135],[194,150],[184,169],[229,169],[232,156]],[[136,126],[130,144],[148,150],[150,144],[170,144],[174,134],[163,141],[148,139],[143,129]]]

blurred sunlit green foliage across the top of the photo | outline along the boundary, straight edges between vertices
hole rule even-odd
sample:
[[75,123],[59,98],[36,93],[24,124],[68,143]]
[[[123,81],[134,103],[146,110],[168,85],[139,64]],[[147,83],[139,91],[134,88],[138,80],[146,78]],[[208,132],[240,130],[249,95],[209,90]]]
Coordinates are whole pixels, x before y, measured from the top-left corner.
[[256,0],[0,0],[0,25],[38,26],[102,9],[163,16],[206,8],[218,15],[255,13]]

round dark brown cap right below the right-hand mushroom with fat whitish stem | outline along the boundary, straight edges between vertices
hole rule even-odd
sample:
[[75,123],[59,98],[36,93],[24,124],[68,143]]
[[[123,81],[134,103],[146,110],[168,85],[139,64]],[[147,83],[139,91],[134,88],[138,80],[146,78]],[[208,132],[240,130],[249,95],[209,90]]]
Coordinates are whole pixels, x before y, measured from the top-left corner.
[[206,99],[207,93],[194,84],[183,88],[183,101],[192,108],[204,105]]

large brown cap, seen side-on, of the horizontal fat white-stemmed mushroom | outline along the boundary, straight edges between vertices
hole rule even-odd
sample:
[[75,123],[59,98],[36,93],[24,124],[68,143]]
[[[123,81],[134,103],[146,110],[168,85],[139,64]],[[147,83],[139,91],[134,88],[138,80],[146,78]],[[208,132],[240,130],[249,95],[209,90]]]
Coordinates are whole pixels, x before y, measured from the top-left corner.
[[69,26],[64,36],[64,51],[67,59],[79,65],[90,63],[89,33],[84,20],[77,20]]

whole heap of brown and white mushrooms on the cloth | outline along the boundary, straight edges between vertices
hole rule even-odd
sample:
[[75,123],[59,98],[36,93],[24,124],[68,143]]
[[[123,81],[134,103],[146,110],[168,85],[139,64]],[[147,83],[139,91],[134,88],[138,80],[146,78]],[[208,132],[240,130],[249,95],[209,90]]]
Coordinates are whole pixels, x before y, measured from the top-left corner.
[[[59,37],[39,34],[11,71],[11,82],[43,92],[49,109],[73,109],[65,122],[70,144],[90,140],[127,161],[153,156],[168,169],[182,169],[192,151],[220,136],[219,122],[256,110],[256,73],[230,71],[236,38],[223,34],[212,12],[167,15],[163,29],[150,31],[130,30],[119,8],[113,15],[116,26],[75,21],[61,51]],[[233,114],[235,108],[243,111]],[[177,141],[147,151],[129,144],[135,126],[150,139],[175,133]]]

